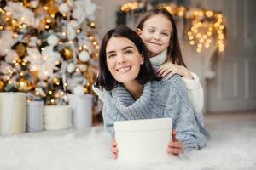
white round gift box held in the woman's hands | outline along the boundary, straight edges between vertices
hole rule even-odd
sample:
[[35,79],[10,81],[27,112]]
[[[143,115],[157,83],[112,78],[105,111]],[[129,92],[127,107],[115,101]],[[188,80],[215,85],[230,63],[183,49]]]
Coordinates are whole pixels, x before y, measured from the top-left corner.
[[167,161],[172,118],[114,122],[119,161]]

